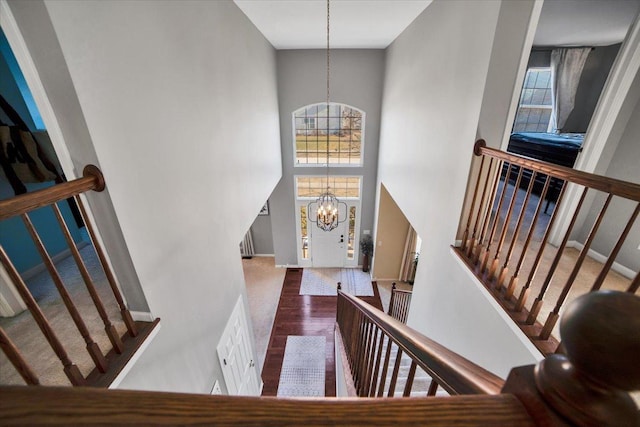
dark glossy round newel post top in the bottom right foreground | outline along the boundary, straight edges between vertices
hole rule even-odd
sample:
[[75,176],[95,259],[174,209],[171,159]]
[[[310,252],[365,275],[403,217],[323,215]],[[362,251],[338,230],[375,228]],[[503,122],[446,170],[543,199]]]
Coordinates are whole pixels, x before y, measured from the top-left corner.
[[[640,297],[599,291],[576,298],[560,322],[566,356],[548,356],[534,371],[544,403],[571,425],[637,426],[628,392],[640,390],[638,331]],[[507,386],[503,392],[512,392]]]

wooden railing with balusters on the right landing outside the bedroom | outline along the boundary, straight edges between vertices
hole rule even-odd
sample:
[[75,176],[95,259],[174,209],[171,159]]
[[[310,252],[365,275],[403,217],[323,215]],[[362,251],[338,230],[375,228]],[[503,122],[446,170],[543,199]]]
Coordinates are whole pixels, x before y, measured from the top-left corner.
[[[506,153],[484,140],[476,142],[474,153],[481,158],[479,173],[462,244],[455,250],[538,349],[553,353],[558,341],[552,332],[567,298],[607,288],[607,276],[640,213],[640,185]],[[548,241],[568,183],[582,192],[560,246],[553,248]],[[573,260],[565,249],[591,193],[604,202]],[[543,212],[544,200],[556,198],[553,211]],[[622,220],[606,261],[589,275],[585,261],[614,199],[626,200],[633,209]],[[640,273],[620,286],[616,290],[638,292]],[[548,314],[543,317],[543,312]]]

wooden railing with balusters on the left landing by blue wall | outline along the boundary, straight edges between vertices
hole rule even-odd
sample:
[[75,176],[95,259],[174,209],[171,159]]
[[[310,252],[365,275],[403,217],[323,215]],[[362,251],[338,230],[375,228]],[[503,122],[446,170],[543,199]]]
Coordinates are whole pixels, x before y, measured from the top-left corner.
[[[36,249],[42,257],[44,265],[53,280],[53,284],[60,294],[61,303],[64,304],[67,309],[75,328],[78,330],[85,343],[85,349],[93,362],[94,369],[92,369],[87,376],[84,376],[78,368],[78,365],[74,362],[74,359],[77,359],[79,355],[69,354],[68,349],[63,345],[60,333],[56,332],[57,327],[52,325],[50,320],[47,319],[45,312],[31,294],[27,284],[19,274],[11,259],[9,259],[7,252],[2,246],[0,246],[0,262],[7,271],[16,291],[33,316],[33,320],[41,330],[43,334],[42,338],[48,342],[59,362],[62,364],[64,374],[68,378],[69,382],[74,386],[108,386],[157,324],[157,320],[155,322],[136,322],[133,320],[129,309],[125,305],[124,298],[118,288],[115,276],[111,271],[111,267],[107,262],[105,252],[99,244],[95,229],[87,215],[87,210],[80,194],[88,191],[99,192],[104,190],[104,188],[105,182],[102,173],[97,167],[89,165],[85,167],[81,178],[0,201],[0,221],[15,216],[20,216],[22,218]],[[78,246],[73,240],[65,219],[58,207],[59,202],[69,198],[73,198],[80,210],[83,222],[92,240],[102,269],[104,270],[106,280],[120,310],[122,321],[126,326],[126,333],[122,336],[119,335],[113,320],[108,315],[105,302],[100,297],[96,283],[94,283],[94,280],[83,261]],[[110,350],[101,349],[97,344],[95,337],[90,333],[90,327],[88,326],[87,321],[81,315],[81,310],[74,301],[73,295],[65,286],[61,274],[52,257],[48,253],[36,226],[31,221],[29,213],[39,208],[51,209],[55,215],[60,231],[64,236],[69,250],[71,251],[71,255],[73,256],[80,275],[82,276],[86,290],[88,291],[91,301],[95,306],[95,310],[97,310],[100,317],[105,334],[111,343],[112,348]],[[36,374],[36,371],[28,362],[28,359],[35,358],[38,355],[27,354],[25,357],[25,353],[21,351],[21,349],[11,339],[7,331],[2,327],[0,327],[0,348],[2,348],[9,361],[13,364],[27,385],[39,385],[41,383],[41,378]],[[55,363],[55,361],[50,362]]]

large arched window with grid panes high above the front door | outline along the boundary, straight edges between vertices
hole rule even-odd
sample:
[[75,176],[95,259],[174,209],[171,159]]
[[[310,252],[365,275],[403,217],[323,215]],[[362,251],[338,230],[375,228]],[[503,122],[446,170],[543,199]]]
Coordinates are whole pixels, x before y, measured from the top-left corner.
[[364,111],[335,102],[295,111],[294,166],[362,166],[364,120]]

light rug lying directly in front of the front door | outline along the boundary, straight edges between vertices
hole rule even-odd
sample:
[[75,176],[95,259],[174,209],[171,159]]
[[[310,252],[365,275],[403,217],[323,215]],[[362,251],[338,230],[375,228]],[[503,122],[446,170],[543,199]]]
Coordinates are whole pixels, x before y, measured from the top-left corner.
[[300,295],[336,296],[338,282],[342,283],[342,290],[346,293],[373,296],[371,276],[358,268],[305,268]]

